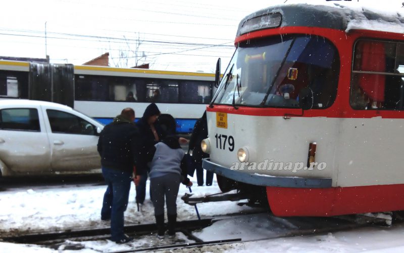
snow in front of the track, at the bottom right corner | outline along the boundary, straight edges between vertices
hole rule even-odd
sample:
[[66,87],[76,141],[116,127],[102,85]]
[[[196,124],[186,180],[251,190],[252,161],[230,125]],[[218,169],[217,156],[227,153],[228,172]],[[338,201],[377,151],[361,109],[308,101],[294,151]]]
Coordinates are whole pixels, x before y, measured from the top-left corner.
[[[362,228],[327,235],[205,246],[201,252],[404,252],[404,225]],[[189,249],[176,252],[189,252]]]

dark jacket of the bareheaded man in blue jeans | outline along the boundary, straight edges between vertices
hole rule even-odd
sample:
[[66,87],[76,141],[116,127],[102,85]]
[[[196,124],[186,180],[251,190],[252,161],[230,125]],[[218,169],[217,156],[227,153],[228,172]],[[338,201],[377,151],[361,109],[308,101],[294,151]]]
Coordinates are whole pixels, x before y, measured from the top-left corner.
[[[114,118],[99,134],[97,150],[101,164],[106,168],[133,172],[139,159],[139,131],[136,125],[122,115]],[[141,174],[142,169],[136,170]]]

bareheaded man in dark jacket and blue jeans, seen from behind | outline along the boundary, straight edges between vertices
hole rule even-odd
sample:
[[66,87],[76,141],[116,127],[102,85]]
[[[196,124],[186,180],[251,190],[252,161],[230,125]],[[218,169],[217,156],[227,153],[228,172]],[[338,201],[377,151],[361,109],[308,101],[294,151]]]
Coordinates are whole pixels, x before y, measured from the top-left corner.
[[[139,156],[139,131],[133,123],[135,112],[125,108],[105,126],[98,139],[103,176],[108,184],[104,194],[102,220],[111,220],[111,239],[125,243],[132,238],[124,234],[124,212],[128,205],[133,166]],[[143,174],[142,168],[136,173]]]

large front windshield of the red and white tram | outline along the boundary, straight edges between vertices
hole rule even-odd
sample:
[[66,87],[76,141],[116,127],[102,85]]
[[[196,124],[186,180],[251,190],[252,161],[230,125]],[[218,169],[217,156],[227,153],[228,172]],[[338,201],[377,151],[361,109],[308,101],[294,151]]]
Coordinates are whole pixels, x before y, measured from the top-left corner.
[[335,100],[339,56],[324,37],[274,36],[240,43],[214,104],[298,108],[299,91],[310,88],[313,108]]

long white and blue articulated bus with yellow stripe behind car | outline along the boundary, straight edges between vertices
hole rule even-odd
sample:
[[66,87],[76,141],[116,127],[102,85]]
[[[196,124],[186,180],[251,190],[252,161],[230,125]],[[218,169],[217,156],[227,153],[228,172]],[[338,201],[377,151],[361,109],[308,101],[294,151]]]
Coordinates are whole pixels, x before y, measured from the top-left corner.
[[0,60],[0,99],[61,103],[102,123],[125,107],[136,118],[157,103],[176,120],[177,133],[190,133],[214,94],[214,74],[49,64]]

